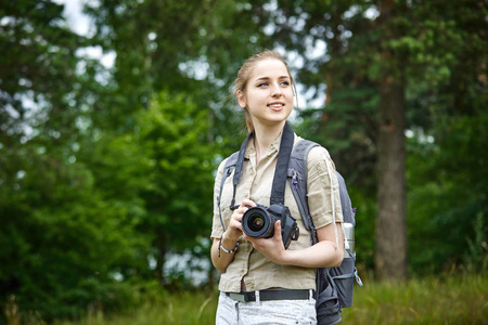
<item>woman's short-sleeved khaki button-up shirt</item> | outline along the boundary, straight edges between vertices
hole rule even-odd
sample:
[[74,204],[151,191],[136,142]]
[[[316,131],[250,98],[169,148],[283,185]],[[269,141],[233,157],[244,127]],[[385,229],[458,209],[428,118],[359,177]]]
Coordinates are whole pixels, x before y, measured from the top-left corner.
[[[300,138],[295,134],[295,143]],[[245,154],[243,174],[239,182],[235,193],[235,204],[239,205],[244,198],[251,199],[256,204],[269,206],[271,196],[272,180],[274,168],[278,160],[278,151],[280,148],[281,134],[268,147],[268,152],[256,165],[256,150],[254,141],[249,141]],[[227,160],[227,159],[226,159]],[[214,223],[211,237],[220,238],[223,234],[217,205],[217,196],[220,192],[220,180],[222,179],[223,160],[215,180],[214,187]],[[328,168],[329,165],[329,168]],[[334,164],[329,152],[323,147],[313,147],[307,159],[308,170],[308,203],[310,214],[316,229],[328,225],[333,222],[332,200],[331,200],[331,181],[329,170],[333,170]],[[232,200],[232,179],[233,173],[226,179],[221,197],[221,212],[223,223],[229,224],[232,216],[230,204]],[[343,221],[341,209],[341,198],[338,193],[338,182],[335,172],[332,172],[332,188],[335,200],[335,220]],[[298,240],[292,240],[288,249],[304,249],[311,246],[310,233],[305,227],[301,220],[298,206],[293,196],[290,183],[286,182],[284,204],[290,208],[292,217],[297,221],[299,227]],[[233,261],[227,268],[226,273],[220,276],[219,289],[226,292],[241,291],[241,281],[244,282],[247,290],[264,290],[267,288],[287,288],[287,289],[314,289],[316,278],[314,269],[282,265],[268,260],[261,252],[253,249],[248,240],[240,238],[240,246],[235,252]]]

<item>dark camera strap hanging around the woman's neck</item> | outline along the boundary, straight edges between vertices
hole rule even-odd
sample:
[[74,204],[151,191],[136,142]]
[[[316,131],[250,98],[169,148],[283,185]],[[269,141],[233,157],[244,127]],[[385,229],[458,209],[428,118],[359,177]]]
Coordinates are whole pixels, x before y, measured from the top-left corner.
[[[232,202],[230,208],[234,210],[236,208],[235,206],[235,192],[237,190],[239,181],[242,177],[242,168],[244,165],[244,155],[246,153],[247,143],[249,142],[253,131],[247,134],[247,138],[244,140],[244,142],[241,145],[241,150],[239,151],[239,157],[235,165],[235,172],[233,178],[233,194],[232,194]],[[271,198],[270,198],[270,205],[273,204],[282,204],[284,205],[284,193],[285,193],[285,185],[286,185],[286,178],[287,178],[287,171],[288,171],[288,162],[290,157],[292,155],[293,150],[293,143],[294,143],[295,134],[293,133],[292,128],[287,122],[285,122],[285,126],[283,128],[283,133],[281,135],[281,143],[280,143],[280,152],[278,153],[278,161],[277,167],[274,169],[274,177],[273,177],[273,184],[271,187]]]

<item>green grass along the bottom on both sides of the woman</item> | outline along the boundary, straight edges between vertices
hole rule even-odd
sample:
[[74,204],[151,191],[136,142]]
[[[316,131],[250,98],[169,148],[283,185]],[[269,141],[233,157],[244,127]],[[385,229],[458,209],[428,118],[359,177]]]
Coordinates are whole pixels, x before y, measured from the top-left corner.
[[[132,313],[89,314],[55,325],[214,324],[218,292],[181,292],[144,304]],[[407,284],[365,281],[342,324],[488,324],[488,278],[480,274],[428,277]]]

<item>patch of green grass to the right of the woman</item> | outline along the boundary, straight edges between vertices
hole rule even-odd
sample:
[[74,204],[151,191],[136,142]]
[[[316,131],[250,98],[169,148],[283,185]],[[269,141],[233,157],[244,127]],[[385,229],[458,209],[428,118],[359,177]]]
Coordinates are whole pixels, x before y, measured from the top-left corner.
[[407,284],[367,283],[343,312],[345,324],[488,324],[488,278],[458,275]]

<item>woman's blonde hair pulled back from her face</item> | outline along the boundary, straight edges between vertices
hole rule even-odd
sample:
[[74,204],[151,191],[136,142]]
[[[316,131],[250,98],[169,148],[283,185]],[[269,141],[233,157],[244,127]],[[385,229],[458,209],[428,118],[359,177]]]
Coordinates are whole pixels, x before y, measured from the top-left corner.
[[[235,80],[234,80],[235,88],[232,93],[234,99],[236,98],[239,91],[242,91],[243,93],[245,93],[245,90],[247,88],[247,82],[249,81],[251,75],[253,74],[253,69],[256,66],[256,64],[264,60],[269,60],[269,58],[278,60],[285,65],[286,72],[288,73],[288,76],[290,76],[290,80],[292,81],[292,87],[293,87],[294,93],[296,94],[295,80],[293,79],[292,74],[290,74],[288,65],[286,64],[284,58],[277,52],[273,52],[270,50],[265,50],[265,51],[254,54],[253,56],[247,58],[246,62],[244,62],[244,64],[239,69],[237,78],[235,78]],[[249,114],[249,110],[247,109],[247,107],[244,108],[244,112],[245,112],[247,130],[251,132],[254,130],[253,120],[251,118],[251,114]]]

